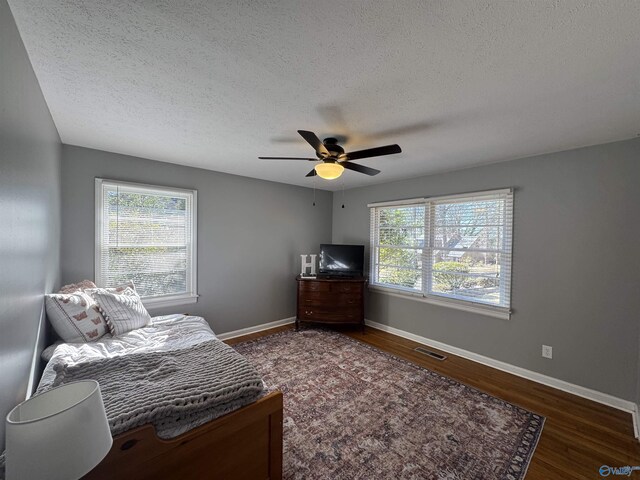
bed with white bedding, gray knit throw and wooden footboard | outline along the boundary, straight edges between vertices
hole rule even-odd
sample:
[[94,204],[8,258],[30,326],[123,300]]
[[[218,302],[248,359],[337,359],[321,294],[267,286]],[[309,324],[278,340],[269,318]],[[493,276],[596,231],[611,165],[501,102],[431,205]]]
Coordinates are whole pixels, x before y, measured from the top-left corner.
[[[191,356],[196,361],[210,358],[202,356],[209,351],[222,352],[220,358],[237,355],[233,351],[229,353],[229,350],[232,351],[215,337],[201,317],[154,317],[148,326],[117,337],[108,335],[95,342],[62,343],[45,350],[43,356],[49,361],[38,391],[82,379],[83,375],[89,378],[93,372],[100,375],[109,370],[109,375],[117,378],[118,369],[126,372],[127,369],[135,370],[136,365],[139,366],[138,370],[148,371],[148,378],[140,381],[141,386],[135,390],[146,388],[146,383],[151,383],[148,388],[152,389],[155,377],[162,376],[167,362],[171,367],[168,370],[172,370],[176,359],[182,361],[181,355],[184,359]],[[156,368],[155,364],[148,367],[144,363],[147,361],[157,361],[159,367]],[[224,361],[220,361],[220,366],[212,361],[200,363],[206,367],[201,368],[205,376],[218,375],[216,369],[218,372],[226,371]],[[109,420],[114,443],[105,459],[86,478],[282,478],[282,393],[269,392],[264,388],[260,388],[258,393],[253,388],[255,381],[245,382],[242,388],[225,386],[221,390],[223,394],[218,395],[214,402],[211,392],[200,388],[201,384],[196,380],[199,378],[197,367],[191,365],[188,368],[189,375],[182,371],[171,372],[171,375],[177,375],[180,381],[185,379],[185,385],[189,385],[192,379],[197,383],[194,388],[197,387],[198,392],[205,391],[198,397],[198,414],[178,410],[179,415],[174,414],[170,421],[159,420],[158,409],[151,408],[134,408],[135,414],[128,412],[128,415],[118,417],[118,421],[112,421],[114,412],[118,412],[114,405],[122,404],[121,400],[126,397],[122,392],[114,393],[112,378],[96,377],[103,391],[107,416],[111,414]],[[234,366],[233,375],[242,376],[242,369]],[[170,380],[170,383],[179,382]],[[246,385],[251,388],[246,388]],[[130,385],[124,385],[125,391],[127,388],[134,390]],[[239,399],[238,391],[245,392]],[[220,398],[226,399],[227,394],[236,396],[233,401],[220,402]],[[201,401],[201,398],[205,401]],[[152,416],[145,417],[141,411],[145,414],[152,412]],[[122,421],[122,418],[126,418],[126,421]],[[141,422],[145,418],[153,418],[153,422]],[[132,425],[133,428],[128,428]]]

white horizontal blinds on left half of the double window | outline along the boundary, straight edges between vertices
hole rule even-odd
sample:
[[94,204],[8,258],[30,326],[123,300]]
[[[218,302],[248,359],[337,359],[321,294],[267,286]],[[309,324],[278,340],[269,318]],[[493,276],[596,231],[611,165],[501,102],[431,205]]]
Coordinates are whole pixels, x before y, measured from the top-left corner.
[[424,204],[371,209],[372,283],[422,291],[424,215]]

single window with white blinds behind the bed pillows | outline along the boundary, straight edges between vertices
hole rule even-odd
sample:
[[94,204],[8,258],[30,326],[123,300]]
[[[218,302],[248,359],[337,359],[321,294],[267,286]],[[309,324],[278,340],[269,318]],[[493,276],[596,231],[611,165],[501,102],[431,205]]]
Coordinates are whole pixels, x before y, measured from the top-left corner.
[[96,179],[96,283],[133,280],[151,306],[195,302],[196,193]]

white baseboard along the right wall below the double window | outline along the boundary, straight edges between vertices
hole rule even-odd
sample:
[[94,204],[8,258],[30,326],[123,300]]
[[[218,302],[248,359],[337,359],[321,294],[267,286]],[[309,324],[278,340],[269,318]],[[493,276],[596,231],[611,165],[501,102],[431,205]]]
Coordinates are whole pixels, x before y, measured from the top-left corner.
[[481,363],[498,370],[502,370],[503,372],[526,378],[527,380],[533,380],[534,382],[557,388],[558,390],[562,390],[563,392],[571,393],[573,395],[577,395],[588,400],[593,400],[594,402],[598,402],[609,407],[617,408],[618,410],[629,412],[633,416],[635,437],[639,438],[638,435],[640,432],[640,419],[638,418],[638,406],[634,402],[614,397],[613,395],[609,395],[608,393],[598,392],[597,390],[592,390],[590,388],[581,387],[580,385],[565,382],[564,380],[549,377],[532,370],[516,367],[515,365],[511,365],[510,363],[501,362],[500,360],[494,360],[493,358],[485,357],[484,355],[479,355],[468,350],[463,350],[462,348],[453,347],[451,345],[447,345],[446,343],[442,343],[437,340],[431,340],[430,338],[426,337],[421,337],[420,335],[400,330],[399,328],[390,327],[389,325],[384,325],[372,320],[365,320],[365,324],[370,326],[371,328],[382,330],[383,332],[392,333],[393,335],[397,335],[408,340],[413,340],[414,342],[437,348],[438,350],[451,353],[452,355],[457,355],[459,357],[466,358],[467,360],[472,360],[474,362]]

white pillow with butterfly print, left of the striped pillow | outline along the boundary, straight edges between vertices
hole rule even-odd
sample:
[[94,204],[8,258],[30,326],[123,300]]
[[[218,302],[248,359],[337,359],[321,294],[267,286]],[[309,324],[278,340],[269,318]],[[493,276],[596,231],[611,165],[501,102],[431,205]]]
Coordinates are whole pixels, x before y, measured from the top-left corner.
[[98,305],[88,293],[45,295],[45,308],[53,329],[65,342],[93,342],[109,331]]

